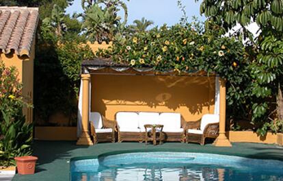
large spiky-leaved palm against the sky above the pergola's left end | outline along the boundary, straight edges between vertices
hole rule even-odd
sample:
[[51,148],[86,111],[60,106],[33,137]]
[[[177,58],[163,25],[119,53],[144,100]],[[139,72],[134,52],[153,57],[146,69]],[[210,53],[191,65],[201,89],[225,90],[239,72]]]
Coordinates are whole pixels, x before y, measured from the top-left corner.
[[[83,30],[90,41],[111,41],[113,36],[118,34],[126,25],[128,10],[126,4],[120,0],[99,0],[89,2],[84,7]],[[84,4],[84,1],[83,1]],[[124,10],[124,22],[118,16],[120,9]]]

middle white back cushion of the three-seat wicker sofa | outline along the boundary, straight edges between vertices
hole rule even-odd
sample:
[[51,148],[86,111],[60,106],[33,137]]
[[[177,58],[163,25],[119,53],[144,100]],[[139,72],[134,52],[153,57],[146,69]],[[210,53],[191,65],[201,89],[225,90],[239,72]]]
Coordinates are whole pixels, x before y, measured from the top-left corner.
[[159,124],[158,112],[139,112],[139,128],[144,129],[146,124]]

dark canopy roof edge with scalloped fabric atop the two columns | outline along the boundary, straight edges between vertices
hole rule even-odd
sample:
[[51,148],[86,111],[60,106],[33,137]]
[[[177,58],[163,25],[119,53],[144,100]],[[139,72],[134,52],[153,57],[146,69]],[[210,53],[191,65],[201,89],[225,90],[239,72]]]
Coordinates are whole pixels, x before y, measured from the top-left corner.
[[180,76],[217,76],[215,72],[199,71],[198,69],[188,69],[180,73],[174,69],[166,71],[154,70],[154,67],[144,64],[142,67],[132,67],[129,64],[113,62],[111,59],[94,58],[82,62],[82,73],[89,74],[119,74],[119,75],[180,75]]

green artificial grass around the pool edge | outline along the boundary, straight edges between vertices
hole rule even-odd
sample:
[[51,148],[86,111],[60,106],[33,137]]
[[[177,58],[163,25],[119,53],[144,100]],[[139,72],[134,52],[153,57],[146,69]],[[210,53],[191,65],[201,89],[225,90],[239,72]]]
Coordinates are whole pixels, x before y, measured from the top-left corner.
[[74,141],[35,141],[34,156],[38,164],[34,175],[16,174],[13,180],[70,180],[70,159],[97,157],[101,154],[119,154],[124,152],[195,152],[243,156],[245,158],[274,159],[283,161],[283,147],[259,143],[232,143],[233,147],[215,147],[187,143],[163,143],[146,145],[145,143],[98,143],[94,146],[78,146]]

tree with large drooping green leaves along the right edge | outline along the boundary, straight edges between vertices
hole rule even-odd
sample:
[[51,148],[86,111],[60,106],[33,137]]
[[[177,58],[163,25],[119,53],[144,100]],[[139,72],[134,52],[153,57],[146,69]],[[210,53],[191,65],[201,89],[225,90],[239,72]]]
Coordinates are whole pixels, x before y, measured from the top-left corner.
[[[282,69],[283,69],[283,1],[210,1],[204,0],[200,12],[208,17],[208,22],[222,27],[228,32],[237,23],[242,26],[241,37],[249,38],[247,53],[250,55],[252,73],[252,122],[260,125],[258,133],[267,130],[280,131],[283,119]],[[245,25],[256,22],[260,35],[254,40]],[[250,47],[249,47],[250,46]],[[274,106],[276,99],[276,106]],[[281,130],[282,131],[282,130]]]

